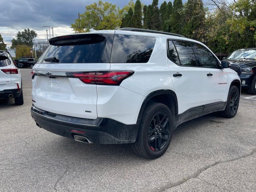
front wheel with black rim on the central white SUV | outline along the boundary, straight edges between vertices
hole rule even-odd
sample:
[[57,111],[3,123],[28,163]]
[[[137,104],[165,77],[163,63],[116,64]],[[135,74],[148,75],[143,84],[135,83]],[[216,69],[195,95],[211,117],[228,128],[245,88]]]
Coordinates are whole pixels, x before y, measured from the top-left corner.
[[231,86],[228,92],[226,108],[220,112],[222,117],[233,118],[238,110],[240,100],[240,92],[236,86]]

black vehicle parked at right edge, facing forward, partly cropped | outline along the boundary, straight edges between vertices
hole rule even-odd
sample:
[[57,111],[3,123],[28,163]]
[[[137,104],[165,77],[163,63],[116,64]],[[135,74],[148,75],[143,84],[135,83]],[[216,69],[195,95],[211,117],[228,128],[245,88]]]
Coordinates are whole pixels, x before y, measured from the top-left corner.
[[256,94],[256,48],[238,49],[225,60],[238,73],[242,88],[247,89],[250,94]]

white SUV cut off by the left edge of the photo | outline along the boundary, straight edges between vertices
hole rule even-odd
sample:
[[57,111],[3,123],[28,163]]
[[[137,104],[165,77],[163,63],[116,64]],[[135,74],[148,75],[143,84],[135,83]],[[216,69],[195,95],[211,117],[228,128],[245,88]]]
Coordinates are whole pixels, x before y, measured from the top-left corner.
[[16,105],[23,104],[21,74],[7,51],[0,51],[0,99],[14,98]]

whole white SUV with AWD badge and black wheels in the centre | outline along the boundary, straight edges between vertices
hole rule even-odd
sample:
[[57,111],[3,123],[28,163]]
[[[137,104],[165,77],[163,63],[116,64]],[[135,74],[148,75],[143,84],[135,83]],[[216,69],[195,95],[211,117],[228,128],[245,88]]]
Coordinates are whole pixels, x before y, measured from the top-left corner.
[[54,37],[33,67],[31,114],[52,133],[86,143],[133,143],[145,158],[167,150],[188,120],[236,115],[240,79],[204,44],[124,28]]

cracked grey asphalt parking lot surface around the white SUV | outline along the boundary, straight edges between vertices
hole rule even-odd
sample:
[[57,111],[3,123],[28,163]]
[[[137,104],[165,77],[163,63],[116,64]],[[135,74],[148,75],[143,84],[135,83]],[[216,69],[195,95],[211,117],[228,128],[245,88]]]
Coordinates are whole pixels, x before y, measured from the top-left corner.
[[[256,100],[243,92],[237,115],[178,126],[156,160],[129,144],[85,144],[38,128],[31,118],[31,69],[24,105],[0,101],[0,191],[256,191]],[[255,97],[256,98],[256,97]]]

